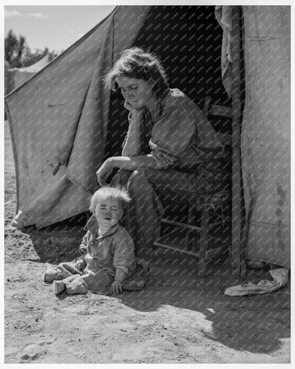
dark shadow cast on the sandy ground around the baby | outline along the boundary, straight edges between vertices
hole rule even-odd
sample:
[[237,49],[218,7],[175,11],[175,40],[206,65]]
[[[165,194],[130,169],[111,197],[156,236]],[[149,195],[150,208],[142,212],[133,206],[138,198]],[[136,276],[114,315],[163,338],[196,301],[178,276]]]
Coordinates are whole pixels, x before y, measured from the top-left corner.
[[[82,220],[82,223],[84,219]],[[85,224],[85,222],[84,222]],[[83,226],[61,224],[37,230],[24,228],[33,242],[40,263],[57,264],[78,255]],[[271,294],[228,297],[226,287],[243,279],[233,273],[228,260],[208,265],[206,277],[197,277],[195,259],[157,248],[143,255],[152,270],[150,282],[139,292],[114,295],[139,312],[155,312],[163,306],[204,314],[211,324],[204,334],[239,351],[271,353],[281,346],[280,338],[290,337],[290,285]],[[247,280],[272,280],[267,268],[247,270]],[[66,299],[61,294],[60,299]],[[99,295],[97,295],[99,299]],[[189,332],[188,332],[189,334]]]

